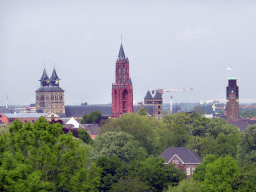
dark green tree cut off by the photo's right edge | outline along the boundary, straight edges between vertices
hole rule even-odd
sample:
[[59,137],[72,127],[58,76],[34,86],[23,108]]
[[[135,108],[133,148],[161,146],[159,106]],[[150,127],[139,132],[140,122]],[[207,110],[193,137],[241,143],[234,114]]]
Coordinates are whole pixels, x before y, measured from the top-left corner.
[[256,162],[256,125],[249,125],[240,134],[237,161],[240,166]]

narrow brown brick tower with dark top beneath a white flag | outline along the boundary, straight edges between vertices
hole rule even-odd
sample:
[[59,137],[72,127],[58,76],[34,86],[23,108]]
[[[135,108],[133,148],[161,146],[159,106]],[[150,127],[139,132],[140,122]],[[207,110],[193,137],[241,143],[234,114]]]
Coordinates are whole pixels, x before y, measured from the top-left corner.
[[236,78],[228,78],[227,86],[227,121],[238,121],[239,119],[239,92]]

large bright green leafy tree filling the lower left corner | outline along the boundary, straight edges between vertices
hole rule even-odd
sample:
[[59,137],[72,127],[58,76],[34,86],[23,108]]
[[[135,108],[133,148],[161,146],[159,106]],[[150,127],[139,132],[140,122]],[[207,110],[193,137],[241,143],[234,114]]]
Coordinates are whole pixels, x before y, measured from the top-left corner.
[[[0,137],[0,167],[5,174],[11,174],[12,169],[2,167],[5,161],[2,154],[10,152],[17,167],[20,164],[32,167],[33,172],[28,174],[34,174],[37,182],[40,179],[51,183],[55,191],[95,191],[100,169],[95,164],[86,166],[89,148],[81,144],[82,141],[74,140],[71,133],[63,134],[61,124],[50,124],[44,117],[34,124],[15,120],[9,132]],[[25,168],[17,170],[20,172],[14,174],[27,175],[23,172]]]

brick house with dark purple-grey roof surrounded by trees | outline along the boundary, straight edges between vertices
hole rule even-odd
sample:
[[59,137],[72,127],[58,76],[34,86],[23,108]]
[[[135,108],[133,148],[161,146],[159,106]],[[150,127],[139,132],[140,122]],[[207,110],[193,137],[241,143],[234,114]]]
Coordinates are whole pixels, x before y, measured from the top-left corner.
[[200,157],[187,147],[169,147],[160,157],[164,158],[164,164],[174,163],[176,167],[186,171],[188,177],[193,175],[196,166],[202,161]]

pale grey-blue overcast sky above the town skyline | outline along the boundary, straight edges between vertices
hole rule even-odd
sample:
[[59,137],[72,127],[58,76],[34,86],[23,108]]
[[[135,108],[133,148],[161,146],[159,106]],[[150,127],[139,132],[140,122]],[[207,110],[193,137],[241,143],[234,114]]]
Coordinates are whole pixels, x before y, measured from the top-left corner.
[[0,0],[0,105],[35,103],[54,66],[66,105],[111,103],[121,35],[136,102],[225,99],[227,75],[256,99],[255,34],[255,0]]

